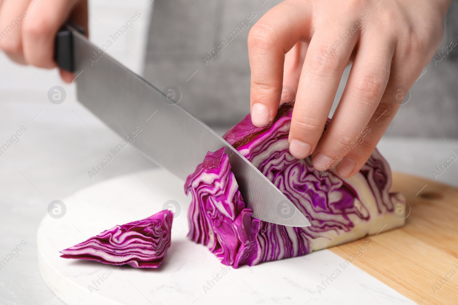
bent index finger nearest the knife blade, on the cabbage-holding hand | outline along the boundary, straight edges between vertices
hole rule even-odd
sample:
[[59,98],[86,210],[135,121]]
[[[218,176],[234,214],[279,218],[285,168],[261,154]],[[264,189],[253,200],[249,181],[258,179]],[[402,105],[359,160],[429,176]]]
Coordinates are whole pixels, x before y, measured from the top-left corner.
[[282,2],[262,16],[250,30],[251,120],[256,126],[266,125],[277,114],[284,57],[299,40],[309,39],[310,9],[308,5],[293,1]]

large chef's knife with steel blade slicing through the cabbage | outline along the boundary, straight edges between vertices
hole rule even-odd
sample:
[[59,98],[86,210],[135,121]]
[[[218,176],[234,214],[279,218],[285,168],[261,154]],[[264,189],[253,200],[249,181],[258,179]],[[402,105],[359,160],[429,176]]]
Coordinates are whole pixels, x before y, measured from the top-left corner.
[[278,225],[305,227],[309,220],[255,166],[211,128],[181,107],[178,88],[160,91],[90,43],[67,23],[55,41],[55,60],[74,72],[77,99],[120,136],[140,126],[134,145],[148,159],[182,180],[208,151],[225,147],[245,205],[252,217]]

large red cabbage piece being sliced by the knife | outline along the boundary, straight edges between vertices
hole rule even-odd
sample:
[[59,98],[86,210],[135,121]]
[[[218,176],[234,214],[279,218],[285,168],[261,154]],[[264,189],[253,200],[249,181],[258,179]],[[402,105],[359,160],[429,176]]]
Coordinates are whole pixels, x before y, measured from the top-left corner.
[[185,193],[192,195],[188,236],[225,265],[238,268],[297,257],[404,224],[394,215],[394,203],[404,204],[404,199],[389,193],[391,169],[378,150],[354,177],[317,171],[310,157],[299,160],[289,153],[291,115],[292,108],[283,106],[276,120],[261,128],[247,115],[224,138],[294,203],[311,226],[288,227],[251,218],[224,148],[208,152],[186,180]]

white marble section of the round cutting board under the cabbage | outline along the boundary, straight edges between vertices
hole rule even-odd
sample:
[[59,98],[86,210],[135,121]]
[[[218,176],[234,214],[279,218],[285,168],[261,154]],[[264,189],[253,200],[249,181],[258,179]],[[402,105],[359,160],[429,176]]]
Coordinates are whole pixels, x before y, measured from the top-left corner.
[[[177,201],[181,212],[160,268],[59,257],[60,250],[114,225],[157,213],[168,200]],[[62,201],[65,215],[46,215],[38,230],[38,263],[46,284],[68,305],[416,304],[354,266],[318,292],[317,285],[344,261],[327,250],[253,267],[224,266],[205,246],[186,238],[191,198],[184,195],[182,181],[161,169],[107,180]]]

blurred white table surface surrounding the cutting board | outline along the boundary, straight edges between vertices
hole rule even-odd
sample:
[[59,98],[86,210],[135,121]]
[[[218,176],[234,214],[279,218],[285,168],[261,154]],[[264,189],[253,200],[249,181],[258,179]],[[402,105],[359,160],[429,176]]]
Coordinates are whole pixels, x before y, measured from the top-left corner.
[[[55,85],[67,92],[63,104],[47,99]],[[76,102],[74,86],[63,84],[57,71],[12,64],[0,54],[0,145],[22,126],[27,131],[20,141],[0,156],[0,260],[21,241],[27,246],[0,270],[0,304],[61,305],[37,266],[35,232],[48,204],[110,177],[156,166],[128,145],[91,180],[87,171],[120,137]],[[458,140],[383,138],[378,147],[393,170],[432,178],[431,171],[458,149]],[[437,180],[458,186],[457,169],[453,163]]]

